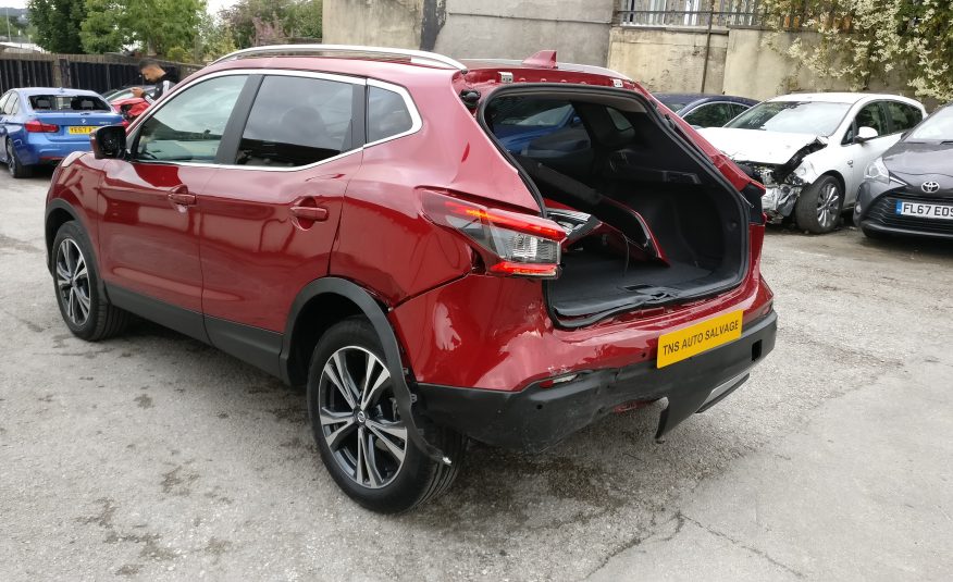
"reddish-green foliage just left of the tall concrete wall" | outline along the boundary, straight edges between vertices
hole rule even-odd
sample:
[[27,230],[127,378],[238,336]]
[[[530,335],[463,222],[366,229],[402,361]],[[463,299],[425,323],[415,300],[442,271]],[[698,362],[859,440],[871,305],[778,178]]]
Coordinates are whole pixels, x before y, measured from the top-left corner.
[[321,38],[321,0],[238,0],[220,16],[239,48]]

